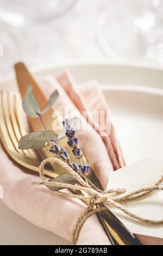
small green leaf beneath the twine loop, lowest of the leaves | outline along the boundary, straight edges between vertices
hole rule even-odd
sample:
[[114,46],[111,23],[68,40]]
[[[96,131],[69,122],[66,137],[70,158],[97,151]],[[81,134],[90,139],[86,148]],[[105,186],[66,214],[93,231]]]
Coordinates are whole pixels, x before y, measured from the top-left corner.
[[[69,173],[63,173],[61,175],[59,175],[57,178],[54,179],[50,179],[48,181],[52,181],[52,182],[62,182],[62,183],[67,183],[67,184],[71,184],[71,185],[75,185],[78,181],[76,179],[73,178],[73,176]],[[58,191],[58,190],[62,190],[64,189],[64,187],[56,187],[56,186],[47,186],[50,190],[53,191]]]

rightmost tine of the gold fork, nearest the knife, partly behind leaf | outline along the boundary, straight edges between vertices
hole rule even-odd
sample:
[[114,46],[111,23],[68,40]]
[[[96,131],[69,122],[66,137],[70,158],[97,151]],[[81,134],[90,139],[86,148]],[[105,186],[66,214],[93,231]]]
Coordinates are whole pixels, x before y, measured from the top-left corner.
[[[18,106],[19,101],[20,101],[20,97],[18,97],[18,94],[14,94],[14,105],[15,105],[15,115],[16,115],[15,119],[16,119],[16,123],[17,123],[17,128],[20,131],[20,137],[18,138],[18,141],[20,140],[20,138],[22,136],[27,134],[27,132],[24,130],[21,113],[20,113],[20,108]],[[33,157],[38,159],[38,156],[33,149],[28,149],[28,152],[30,153],[30,155],[32,155]]]

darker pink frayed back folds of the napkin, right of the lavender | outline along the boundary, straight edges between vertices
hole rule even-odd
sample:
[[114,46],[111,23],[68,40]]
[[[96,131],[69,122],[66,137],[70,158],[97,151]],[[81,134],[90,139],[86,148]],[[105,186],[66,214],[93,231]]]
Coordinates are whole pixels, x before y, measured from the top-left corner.
[[[96,81],[90,81],[88,83],[75,86],[76,83],[73,81],[73,78],[68,71],[57,77],[57,80],[65,89],[65,92],[74,102],[76,107],[79,109],[80,113],[89,110],[91,112],[103,111],[105,113],[104,125],[107,127],[110,126],[111,133],[110,136],[102,136],[102,139],[106,146],[106,149],[108,150],[112,165],[114,166],[115,170],[126,165],[120,145],[115,135],[114,126],[112,125],[110,118],[107,118],[107,113],[109,113],[108,105]],[[87,121],[90,120],[92,119],[88,117]],[[92,123],[93,127],[97,129],[99,135],[102,135],[102,133],[105,132],[105,130],[103,129],[98,129],[99,120],[92,121]]]

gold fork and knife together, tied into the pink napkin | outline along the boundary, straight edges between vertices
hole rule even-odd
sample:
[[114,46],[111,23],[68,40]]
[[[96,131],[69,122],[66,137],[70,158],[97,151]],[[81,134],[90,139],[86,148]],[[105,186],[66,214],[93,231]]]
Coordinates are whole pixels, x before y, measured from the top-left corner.
[[[41,92],[41,89],[35,82],[32,75],[27,70],[23,63],[15,64],[15,72],[17,77],[18,87],[20,89],[21,97],[26,94],[28,83],[33,86],[33,93],[36,100],[43,108],[46,106],[47,99]],[[20,103],[21,97],[19,93],[3,92],[1,91],[1,105],[0,105],[0,136],[8,155],[15,162],[20,164],[26,169],[39,173],[40,156],[33,149],[20,150],[18,149],[18,142],[20,138],[27,134],[24,129],[23,119],[21,117]],[[43,119],[49,130],[52,130],[52,114],[54,108],[50,109],[48,113],[43,114]],[[28,118],[30,127],[33,131],[42,129],[38,119]],[[59,172],[55,172],[52,168],[45,169],[44,173],[50,178],[56,178]],[[99,185],[99,182],[93,174],[92,182],[95,181]],[[99,187],[101,188],[101,187]],[[98,220],[101,222],[106,235],[112,245],[140,245],[139,240],[112,214],[108,209],[101,213],[97,213]]]

